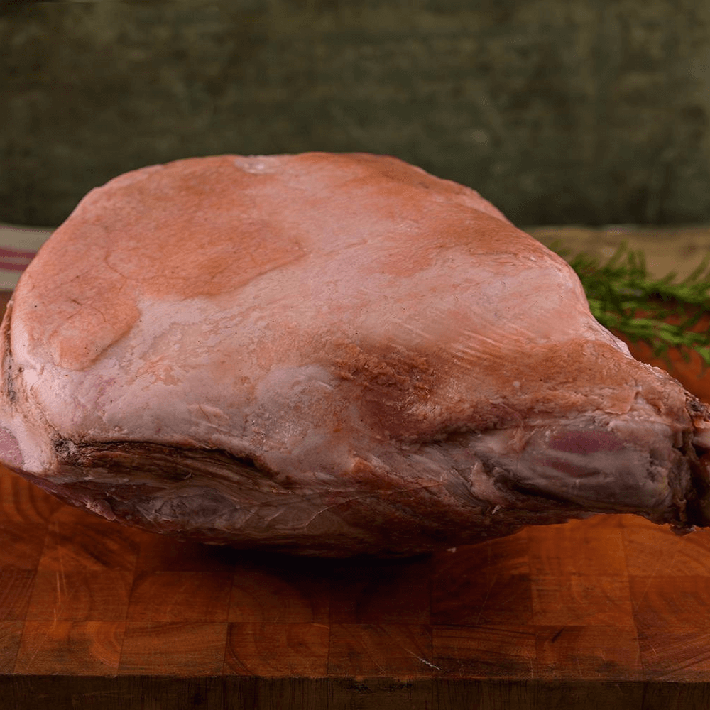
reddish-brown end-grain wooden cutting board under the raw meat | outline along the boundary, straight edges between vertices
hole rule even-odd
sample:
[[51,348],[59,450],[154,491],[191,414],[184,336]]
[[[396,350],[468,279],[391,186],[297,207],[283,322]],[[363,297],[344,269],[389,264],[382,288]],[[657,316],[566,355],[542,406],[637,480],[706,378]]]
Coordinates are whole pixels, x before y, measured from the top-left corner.
[[0,467],[0,709],[707,709],[710,531],[400,560],[168,540]]

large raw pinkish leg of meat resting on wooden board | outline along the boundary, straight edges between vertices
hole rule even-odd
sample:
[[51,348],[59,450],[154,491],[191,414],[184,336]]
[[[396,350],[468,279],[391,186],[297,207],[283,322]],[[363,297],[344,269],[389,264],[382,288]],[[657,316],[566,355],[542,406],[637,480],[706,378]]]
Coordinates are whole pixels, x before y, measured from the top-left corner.
[[135,170],[2,324],[0,458],[109,520],[311,555],[708,523],[710,416],[477,192],[385,156]]

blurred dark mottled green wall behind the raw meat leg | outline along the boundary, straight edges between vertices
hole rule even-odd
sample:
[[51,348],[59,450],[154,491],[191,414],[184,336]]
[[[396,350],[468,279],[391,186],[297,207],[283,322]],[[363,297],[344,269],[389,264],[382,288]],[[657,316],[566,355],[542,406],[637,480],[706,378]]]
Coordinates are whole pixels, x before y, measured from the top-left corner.
[[518,224],[710,221],[710,3],[5,2],[0,222],[214,153],[390,153]]

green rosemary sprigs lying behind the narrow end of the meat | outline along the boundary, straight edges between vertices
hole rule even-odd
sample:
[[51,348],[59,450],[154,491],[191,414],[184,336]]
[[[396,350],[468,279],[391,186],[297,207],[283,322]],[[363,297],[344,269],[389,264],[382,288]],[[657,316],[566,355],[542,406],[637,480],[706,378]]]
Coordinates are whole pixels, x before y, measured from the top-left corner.
[[[564,248],[552,246],[567,258]],[[643,251],[624,243],[606,263],[586,253],[567,258],[579,275],[592,315],[604,327],[631,342],[643,341],[656,357],[676,348],[686,361],[697,352],[710,366],[710,332],[691,329],[710,311],[710,255],[689,276],[677,282],[677,273],[653,278]],[[675,317],[674,323],[667,318]]]

